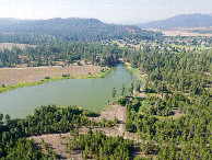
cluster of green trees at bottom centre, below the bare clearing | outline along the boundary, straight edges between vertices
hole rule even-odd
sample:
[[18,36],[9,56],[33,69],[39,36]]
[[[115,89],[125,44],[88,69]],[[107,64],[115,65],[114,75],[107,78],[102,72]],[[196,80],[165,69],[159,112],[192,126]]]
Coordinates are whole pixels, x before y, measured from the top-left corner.
[[83,150],[81,155],[84,159],[92,157],[94,159],[130,159],[130,151],[134,149],[132,140],[122,137],[107,137],[102,132],[80,135],[73,133],[73,138],[67,144],[68,152],[72,150]]

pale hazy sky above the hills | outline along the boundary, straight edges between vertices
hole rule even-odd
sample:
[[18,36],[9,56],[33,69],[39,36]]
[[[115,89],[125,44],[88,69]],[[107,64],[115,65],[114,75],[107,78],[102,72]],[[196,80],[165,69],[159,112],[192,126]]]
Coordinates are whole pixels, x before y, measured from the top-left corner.
[[187,13],[212,13],[212,0],[0,0],[0,18],[141,23]]

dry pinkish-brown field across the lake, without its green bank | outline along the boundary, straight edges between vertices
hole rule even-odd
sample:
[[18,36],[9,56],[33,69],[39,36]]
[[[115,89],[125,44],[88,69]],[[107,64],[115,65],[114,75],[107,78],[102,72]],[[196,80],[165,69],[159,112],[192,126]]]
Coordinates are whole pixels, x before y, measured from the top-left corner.
[[45,77],[59,77],[62,75],[70,76],[89,76],[97,75],[103,67],[99,66],[51,66],[51,67],[27,67],[27,68],[0,68],[0,85],[13,85],[19,82],[36,82]]

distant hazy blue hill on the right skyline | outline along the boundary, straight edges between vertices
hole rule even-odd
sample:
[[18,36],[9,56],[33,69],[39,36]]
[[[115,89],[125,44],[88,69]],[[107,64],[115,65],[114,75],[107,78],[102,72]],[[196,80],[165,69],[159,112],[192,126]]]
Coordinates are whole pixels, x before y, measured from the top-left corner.
[[208,14],[179,14],[165,20],[138,24],[140,27],[173,28],[173,27],[209,27],[212,26],[212,16]]

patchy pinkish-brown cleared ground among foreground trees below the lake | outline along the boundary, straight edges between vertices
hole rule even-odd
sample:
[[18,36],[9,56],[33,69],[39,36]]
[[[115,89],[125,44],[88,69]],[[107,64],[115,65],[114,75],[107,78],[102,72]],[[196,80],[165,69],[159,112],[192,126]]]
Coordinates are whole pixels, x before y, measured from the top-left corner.
[[[99,122],[102,118],[114,121],[114,117],[118,118],[118,125],[113,128],[98,128],[97,126],[92,129],[94,130],[102,130],[107,136],[118,136],[125,134],[125,138],[131,138],[136,137],[134,134],[129,134],[128,132],[125,132],[125,122],[126,122],[126,106],[120,105],[109,105],[106,111],[103,111],[99,117],[92,118],[96,122]],[[89,132],[87,127],[80,128],[80,134],[85,134]],[[60,137],[61,135],[61,137]],[[69,133],[66,134],[48,134],[48,135],[40,135],[40,136],[32,136],[30,139],[34,139],[37,147],[42,149],[43,152],[46,152],[44,147],[42,146],[42,139],[44,139],[45,142],[49,145],[49,147],[52,148],[52,150],[56,152],[57,157],[60,157],[61,159],[76,159],[81,160],[81,151],[76,150],[72,152],[72,155],[69,155],[66,152],[66,144],[71,139],[71,136]]]

